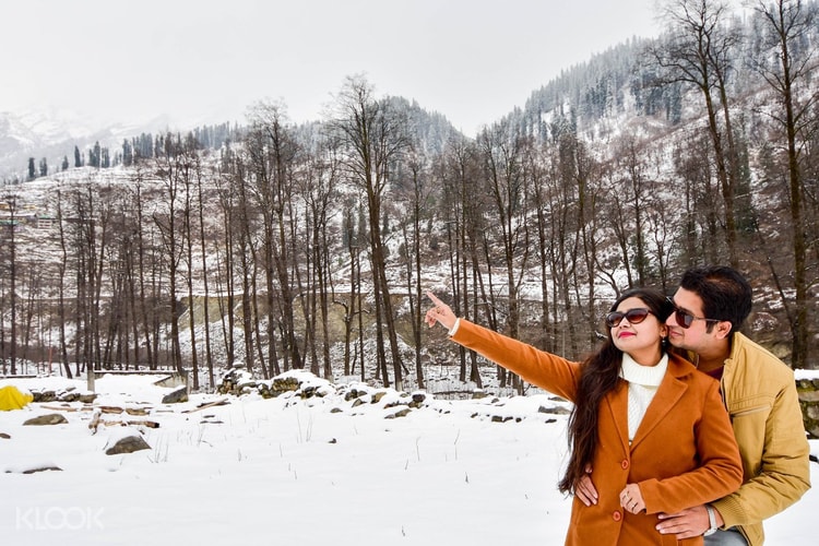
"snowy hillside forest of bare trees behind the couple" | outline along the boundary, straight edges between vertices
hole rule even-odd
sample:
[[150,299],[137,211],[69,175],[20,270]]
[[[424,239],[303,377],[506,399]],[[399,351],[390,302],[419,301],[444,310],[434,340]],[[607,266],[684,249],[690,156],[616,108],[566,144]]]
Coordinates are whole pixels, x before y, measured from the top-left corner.
[[[740,19],[676,0],[664,21],[474,138],[355,75],[314,123],[259,103],[241,128],[75,149],[51,174],[32,159],[0,200],[2,373],[173,367],[199,389],[244,366],[424,388],[427,288],[580,358],[620,290],[670,294],[716,263],[755,286],[751,336],[819,366],[817,4]],[[456,361],[479,387],[477,357]]]

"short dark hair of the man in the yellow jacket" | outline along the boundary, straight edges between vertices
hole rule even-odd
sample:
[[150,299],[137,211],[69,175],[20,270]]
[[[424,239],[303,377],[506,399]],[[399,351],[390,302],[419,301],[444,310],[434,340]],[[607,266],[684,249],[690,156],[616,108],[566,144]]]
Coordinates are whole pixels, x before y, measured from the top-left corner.
[[727,320],[734,332],[739,331],[750,314],[750,284],[733,268],[712,265],[690,269],[682,274],[679,285],[702,299],[702,312],[707,319]]

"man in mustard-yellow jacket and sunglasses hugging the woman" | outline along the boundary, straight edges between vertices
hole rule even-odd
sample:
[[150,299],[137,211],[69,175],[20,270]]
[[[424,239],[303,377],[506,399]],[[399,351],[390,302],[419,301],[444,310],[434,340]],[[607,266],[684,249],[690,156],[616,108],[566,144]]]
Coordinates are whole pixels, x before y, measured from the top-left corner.
[[[675,312],[666,321],[668,341],[687,351],[700,371],[720,380],[743,458],[744,483],[708,506],[662,514],[657,531],[678,539],[704,534],[709,546],[760,546],[762,521],[810,488],[810,450],[793,371],[739,333],[751,310],[751,287],[737,271],[689,270],[670,299]],[[575,492],[586,503],[596,501],[590,479]]]

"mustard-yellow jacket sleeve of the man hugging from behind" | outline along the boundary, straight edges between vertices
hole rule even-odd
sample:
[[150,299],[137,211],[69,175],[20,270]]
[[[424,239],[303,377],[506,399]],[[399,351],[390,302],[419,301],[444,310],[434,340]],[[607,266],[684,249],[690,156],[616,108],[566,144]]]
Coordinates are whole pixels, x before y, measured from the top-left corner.
[[[758,408],[757,412],[734,415],[735,426],[743,426],[738,419],[761,419],[764,413]],[[744,453],[750,475],[736,492],[712,502],[725,526],[760,523],[799,500],[810,488],[809,452],[798,393],[791,376],[764,419],[761,453]]]

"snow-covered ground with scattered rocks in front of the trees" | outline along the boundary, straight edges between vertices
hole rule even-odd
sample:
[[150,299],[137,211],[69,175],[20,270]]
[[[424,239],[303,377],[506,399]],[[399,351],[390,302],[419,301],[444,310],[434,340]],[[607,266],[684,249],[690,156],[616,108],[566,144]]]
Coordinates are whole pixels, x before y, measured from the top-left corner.
[[[170,405],[157,377],[106,376],[96,380],[93,407],[51,402],[0,412],[0,435],[9,437],[0,437],[3,544],[562,544],[570,500],[556,483],[566,404],[545,394],[427,395],[390,418],[412,396],[297,377],[323,396],[193,394]],[[64,378],[0,380],[9,383],[85,390],[84,380]],[[353,388],[359,396],[345,396]],[[146,413],[103,420],[159,426],[100,424],[93,434],[100,406]],[[49,413],[68,423],[23,426]],[[152,449],[105,454],[134,430]],[[819,454],[819,443],[811,450]],[[55,466],[61,471],[25,473]],[[819,464],[811,472],[819,483]],[[767,544],[816,544],[818,512],[811,489],[765,524]]]

